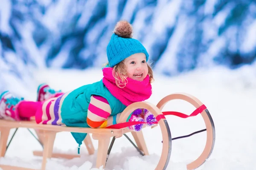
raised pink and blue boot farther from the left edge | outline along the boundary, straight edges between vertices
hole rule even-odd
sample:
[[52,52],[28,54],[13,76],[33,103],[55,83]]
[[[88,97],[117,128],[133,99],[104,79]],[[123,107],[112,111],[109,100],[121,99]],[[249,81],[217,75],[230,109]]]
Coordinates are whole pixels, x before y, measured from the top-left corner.
[[63,92],[61,91],[55,91],[54,89],[50,88],[49,85],[47,84],[41,84],[38,86],[38,97],[37,101],[38,102],[43,102],[47,99],[50,99],[52,97],[58,97]]

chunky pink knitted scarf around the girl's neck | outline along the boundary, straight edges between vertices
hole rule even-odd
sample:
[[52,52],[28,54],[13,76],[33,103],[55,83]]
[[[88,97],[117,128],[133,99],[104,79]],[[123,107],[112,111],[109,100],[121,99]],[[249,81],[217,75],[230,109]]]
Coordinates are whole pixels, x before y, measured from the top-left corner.
[[[127,77],[128,82],[124,88],[116,86],[115,78],[113,77],[113,68],[103,68],[103,83],[108,88],[110,93],[119,99],[122,104],[128,106],[134,102],[142,102],[148,99],[152,94],[151,83],[149,82],[149,75],[143,81],[137,81]],[[121,86],[122,87],[122,86]]]

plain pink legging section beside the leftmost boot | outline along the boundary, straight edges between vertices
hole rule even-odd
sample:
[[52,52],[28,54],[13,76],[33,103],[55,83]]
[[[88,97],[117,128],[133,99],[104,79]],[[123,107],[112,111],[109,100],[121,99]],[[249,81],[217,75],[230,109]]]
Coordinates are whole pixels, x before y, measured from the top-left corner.
[[22,101],[18,105],[17,111],[20,117],[30,118],[35,116],[35,113],[39,107],[41,107],[41,102]]

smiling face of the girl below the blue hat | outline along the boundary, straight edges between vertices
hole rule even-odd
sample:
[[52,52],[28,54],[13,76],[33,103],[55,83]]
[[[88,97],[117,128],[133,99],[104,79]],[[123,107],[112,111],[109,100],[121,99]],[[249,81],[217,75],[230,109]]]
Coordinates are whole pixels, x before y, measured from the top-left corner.
[[136,53],[125,59],[128,77],[143,81],[148,74],[148,65],[144,53]]

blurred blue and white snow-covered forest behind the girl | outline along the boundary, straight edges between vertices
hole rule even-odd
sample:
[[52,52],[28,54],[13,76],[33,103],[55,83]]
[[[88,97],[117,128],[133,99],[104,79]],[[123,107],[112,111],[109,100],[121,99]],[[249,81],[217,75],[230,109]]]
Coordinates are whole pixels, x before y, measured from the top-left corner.
[[119,20],[158,74],[255,63],[256,0],[0,0],[0,91],[38,69],[101,68]]

